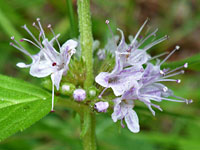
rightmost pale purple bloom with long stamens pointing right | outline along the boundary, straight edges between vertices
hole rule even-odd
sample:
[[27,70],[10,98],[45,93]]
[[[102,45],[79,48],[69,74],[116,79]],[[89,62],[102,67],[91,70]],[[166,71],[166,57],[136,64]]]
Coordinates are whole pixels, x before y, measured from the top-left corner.
[[[144,102],[153,115],[155,115],[154,110],[151,106],[156,107],[161,110],[160,106],[153,104],[151,101],[161,102],[163,100],[173,101],[173,102],[185,102],[191,103],[192,100],[187,100],[173,94],[173,91],[168,89],[162,82],[165,81],[174,81],[180,83],[180,79],[170,79],[169,77],[184,73],[183,70],[178,71],[179,69],[186,68],[188,64],[184,64],[173,70],[169,69],[160,69],[160,66],[166,61],[179,47],[176,47],[162,62],[157,62],[156,65],[151,63],[147,64],[144,74],[139,80],[138,84],[135,84],[130,90],[126,91],[122,95],[122,99],[126,100],[140,100]],[[161,83],[160,83],[161,82]],[[172,97],[172,98],[168,98]]]

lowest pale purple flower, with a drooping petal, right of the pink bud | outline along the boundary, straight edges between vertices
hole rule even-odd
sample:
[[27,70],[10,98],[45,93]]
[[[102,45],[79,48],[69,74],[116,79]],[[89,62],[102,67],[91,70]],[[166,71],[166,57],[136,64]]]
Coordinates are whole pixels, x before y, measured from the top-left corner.
[[137,133],[140,131],[139,119],[137,113],[133,110],[134,103],[131,100],[124,100],[122,98],[114,99],[114,112],[112,119],[114,122],[121,120],[121,126],[124,128],[123,120],[125,120],[128,129]]

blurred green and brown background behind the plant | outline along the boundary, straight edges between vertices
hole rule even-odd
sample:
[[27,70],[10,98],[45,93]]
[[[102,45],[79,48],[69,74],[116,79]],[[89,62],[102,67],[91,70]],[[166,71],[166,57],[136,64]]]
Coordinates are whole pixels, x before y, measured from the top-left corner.
[[[32,25],[37,17],[42,24],[52,24],[61,33],[63,43],[77,36],[76,1],[72,1],[75,26],[70,25],[69,7],[65,0],[0,0],[0,73],[38,84],[41,80],[29,75],[28,69],[18,69],[16,63],[30,61],[9,45],[10,36],[16,39],[27,33],[22,25]],[[92,0],[94,39],[102,48],[110,36],[105,20],[109,19],[113,31],[120,28],[126,37],[134,35],[144,20],[150,18],[148,29],[159,28],[158,37],[169,35],[168,41],[152,48],[152,55],[171,51],[176,44],[181,50],[169,60],[189,64],[182,83],[169,84],[178,96],[193,99],[190,105],[163,102],[163,112],[156,117],[138,102],[136,111],[141,131],[133,134],[112,122],[110,114],[97,115],[97,142],[99,150],[199,150],[200,149],[200,1],[199,0]],[[30,27],[31,28],[31,27]],[[32,29],[32,28],[31,28]],[[73,30],[73,31],[72,31]],[[34,30],[36,31],[36,30]],[[36,33],[36,32],[35,32]],[[47,30],[47,34],[52,35]],[[30,45],[25,45],[31,49]],[[36,53],[36,49],[32,49]],[[189,59],[188,59],[189,58]],[[178,61],[178,63],[176,63]],[[38,110],[39,111],[39,110]],[[56,107],[51,113],[24,132],[0,143],[0,150],[79,150],[79,117],[67,108]]]

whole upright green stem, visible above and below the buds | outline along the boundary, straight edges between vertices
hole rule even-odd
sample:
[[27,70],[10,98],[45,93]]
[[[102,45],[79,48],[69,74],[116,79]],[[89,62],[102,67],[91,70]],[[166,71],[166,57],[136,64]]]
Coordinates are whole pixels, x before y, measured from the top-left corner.
[[[90,14],[90,0],[78,0],[78,19],[82,58],[86,66],[86,80],[84,88],[88,89],[93,84],[93,56],[92,56],[92,23]],[[88,106],[82,107],[81,138],[84,150],[96,150],[95,114]]]

